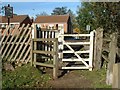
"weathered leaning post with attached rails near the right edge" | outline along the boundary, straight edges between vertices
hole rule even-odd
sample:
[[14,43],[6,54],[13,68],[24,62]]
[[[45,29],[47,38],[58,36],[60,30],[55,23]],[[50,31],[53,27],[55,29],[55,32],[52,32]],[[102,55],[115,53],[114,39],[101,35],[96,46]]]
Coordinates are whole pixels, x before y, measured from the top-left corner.
[[108,85],[112,84],[113,78],[113,65],[116,63],[116,53],[117,53],[117,34],[113,33],[110,35],[110,38],[104,38],[103,41],[105,45],[108,46],[103,48],[102,58],[107,61],[107,76],[106,76],[106,83]]

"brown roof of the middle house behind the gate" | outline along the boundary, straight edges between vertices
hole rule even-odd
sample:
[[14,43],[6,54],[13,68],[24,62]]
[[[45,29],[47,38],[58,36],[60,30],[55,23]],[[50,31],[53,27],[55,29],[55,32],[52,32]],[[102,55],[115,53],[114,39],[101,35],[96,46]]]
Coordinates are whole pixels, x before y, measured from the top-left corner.
[[51,15],[51,16],[38,16],[34,23],[63,23],[67,22],[69,15]]

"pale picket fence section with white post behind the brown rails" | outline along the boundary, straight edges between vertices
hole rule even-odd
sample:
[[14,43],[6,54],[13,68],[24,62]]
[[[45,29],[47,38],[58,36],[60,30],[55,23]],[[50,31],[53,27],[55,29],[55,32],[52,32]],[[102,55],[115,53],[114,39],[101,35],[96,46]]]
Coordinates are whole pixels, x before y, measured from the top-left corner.
[[[61,45],[60,43],[62,43],[62,37],[60,37],[61,34],[64,34],[64,30],[44,30],[41,28],[38,28],[36,25],[34,26],[34,31],[37,33],[34,33],[34,38],[58,38],[58,57],[59,59],[61,59],[61,48],[63,49],[63,45]],[[42,49],[42,50],[46,50],[46,51],[51,51],[50,45],[48,44],[49,41],[43,41],[42,44],[40,42],[37,42],[37,49]],[[42,45],[42,46],[41,46]],[[42,47],[42,48],[41,48]],[[48,56],[51,57],[50,54],[48,54]],[[50,58],[46,58],[47,60]]]

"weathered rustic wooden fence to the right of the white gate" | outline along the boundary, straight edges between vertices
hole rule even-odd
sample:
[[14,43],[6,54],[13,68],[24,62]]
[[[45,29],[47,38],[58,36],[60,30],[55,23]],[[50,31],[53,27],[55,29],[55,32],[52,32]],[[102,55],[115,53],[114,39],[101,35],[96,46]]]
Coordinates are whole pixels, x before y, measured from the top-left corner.
[[[117,47],[118,35],[113,33],[110,37],[108,36],[104,35],[103,37],[103,29],[98,28],[95,31],[94,67],[95,69],[100,69],[102,65],[107,65],[106,84],[113,85],[115,88],[120,85],[120,82],[118,83],[118,80],[116,81],[116,78],[120,79],[120,74],[116,74],[119,73],[119,65],[116,64],[119,60],[117,60],[116,56],[120,56],[119,48]],[[117,85],[115,85],[116,82]]]

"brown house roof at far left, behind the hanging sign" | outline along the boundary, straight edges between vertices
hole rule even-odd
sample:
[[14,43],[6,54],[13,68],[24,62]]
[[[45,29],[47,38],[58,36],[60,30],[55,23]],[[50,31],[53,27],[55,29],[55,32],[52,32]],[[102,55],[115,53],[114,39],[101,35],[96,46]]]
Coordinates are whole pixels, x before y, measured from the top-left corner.
[[[22,23],[28,15],[14,15],[13,18],[10,18],[11,23]],[[8,19],[6,16],[0,16],[0,23],[7,23]]]

